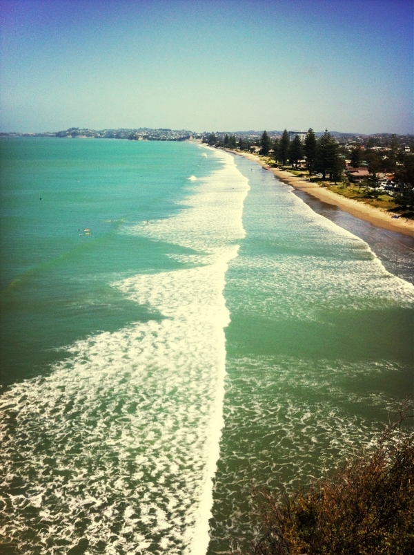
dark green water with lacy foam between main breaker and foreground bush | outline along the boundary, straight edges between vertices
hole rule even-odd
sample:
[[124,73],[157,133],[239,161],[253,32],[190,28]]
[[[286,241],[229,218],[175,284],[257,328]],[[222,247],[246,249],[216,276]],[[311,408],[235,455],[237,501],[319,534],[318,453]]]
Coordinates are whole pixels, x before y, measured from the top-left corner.
[[[225,427],[215,476],[210,554],[259,534],[252,487],[278,491],[324,476],[382,430],[400,399],[375,385],[406,368],[296,357],[228,361]],[[364,384],[371,383],[371,389]]]

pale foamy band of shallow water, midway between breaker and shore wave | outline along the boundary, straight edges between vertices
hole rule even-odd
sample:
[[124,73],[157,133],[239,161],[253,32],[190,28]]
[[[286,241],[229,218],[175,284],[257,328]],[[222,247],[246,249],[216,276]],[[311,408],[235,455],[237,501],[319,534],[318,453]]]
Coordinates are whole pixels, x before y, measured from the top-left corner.
[[[317,319],[324,310],[414,305],[413,284],[386,272],[377,258],[333,261],[275,254],[238,258],[236,268],[234,280],[244,283],[240,290],[246,294],[237,297],[232,308],[250,315]],[[234,283],[233,279],[229,283]]]

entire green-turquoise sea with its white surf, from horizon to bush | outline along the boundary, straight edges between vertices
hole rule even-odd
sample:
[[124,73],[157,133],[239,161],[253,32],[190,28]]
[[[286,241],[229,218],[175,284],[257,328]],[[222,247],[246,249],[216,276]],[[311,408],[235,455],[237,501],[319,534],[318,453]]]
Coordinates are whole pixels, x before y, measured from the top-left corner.
[[413,241],[239,156],[4,138],[0,231],[5,554],[240,547],[413,391]]

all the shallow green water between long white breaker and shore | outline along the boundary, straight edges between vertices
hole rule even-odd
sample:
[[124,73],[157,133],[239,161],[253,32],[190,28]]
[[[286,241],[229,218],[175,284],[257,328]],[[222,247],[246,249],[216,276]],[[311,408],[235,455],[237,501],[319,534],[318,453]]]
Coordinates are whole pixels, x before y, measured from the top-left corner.
[[413,285],[268,172],[250,187],[246,238],[226,274],[232,322],[208,554],[248,552],[259,534],[252,487],[307,485],[331,471],[377,437],[412,385],[398,326],[409,326]]

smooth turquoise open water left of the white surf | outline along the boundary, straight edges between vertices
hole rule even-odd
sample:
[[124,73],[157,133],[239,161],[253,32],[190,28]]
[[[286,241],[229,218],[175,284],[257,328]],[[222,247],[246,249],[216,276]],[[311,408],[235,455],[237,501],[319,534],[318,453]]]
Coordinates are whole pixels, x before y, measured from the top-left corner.
[[[17,139],[3,140],[2,147],[2,370],[8,384],[43,374],[57,347],[151,317],[110,283],[179,267],[164,254],[182,249],[125,230],[177,213],[188,189],[186,172],[197,168],[204,175],[209,166],[195,149],[173,143],[161,153],[155,143],[139,144],[138,151],[115,140]],[[165,164],[168,173],[159,169]]]

